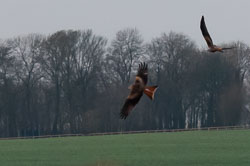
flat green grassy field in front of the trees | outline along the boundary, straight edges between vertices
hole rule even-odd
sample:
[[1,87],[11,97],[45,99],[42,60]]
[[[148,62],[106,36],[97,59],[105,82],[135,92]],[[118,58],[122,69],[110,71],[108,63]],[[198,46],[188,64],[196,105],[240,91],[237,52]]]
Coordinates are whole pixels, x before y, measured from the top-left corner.
[[1,166],[249,166],[250,130],[0,140]]

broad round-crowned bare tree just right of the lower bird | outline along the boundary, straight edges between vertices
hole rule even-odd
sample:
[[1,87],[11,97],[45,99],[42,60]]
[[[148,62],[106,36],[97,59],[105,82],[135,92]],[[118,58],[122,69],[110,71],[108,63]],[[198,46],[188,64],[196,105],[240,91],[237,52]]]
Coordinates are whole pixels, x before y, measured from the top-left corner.
[[156,103],[157,128],[183,128],[189,106],[184,98],[187,75],[196,46],[187,36],[170,32],[155,38],[147,48],[161,88]]

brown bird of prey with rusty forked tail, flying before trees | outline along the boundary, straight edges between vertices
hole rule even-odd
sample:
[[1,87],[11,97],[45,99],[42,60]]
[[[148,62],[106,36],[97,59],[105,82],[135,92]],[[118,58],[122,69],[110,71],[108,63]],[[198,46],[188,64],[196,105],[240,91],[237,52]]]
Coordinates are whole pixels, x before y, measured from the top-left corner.
[[143,93],[145,93],[151,100],[154,99],[154,93],[158,86],[146,86],[148,81],[148,66],[145,63],[139,64],[139,69],[135,77],[135,82],[129,86],[130,94],[127,97],[121,112],[121,119],[126,119],[131,110],[139,102]]

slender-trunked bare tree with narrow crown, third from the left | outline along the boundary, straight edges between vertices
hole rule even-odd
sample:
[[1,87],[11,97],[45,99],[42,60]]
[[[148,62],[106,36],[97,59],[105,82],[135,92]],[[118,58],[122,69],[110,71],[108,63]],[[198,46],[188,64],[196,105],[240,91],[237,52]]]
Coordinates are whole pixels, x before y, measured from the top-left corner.
[[50,35],[43,43],[43,57],[40,59],[43,71],[46,78],[51,82],[54,89],[54,111],[50,115],[53,117],[52,132],[58,133],[63,126],[61,118],[63,116],[60,111],[61,95],[62,95],[62,81],[63,81],[63,63],[67,56],[66,31],[58,31]]

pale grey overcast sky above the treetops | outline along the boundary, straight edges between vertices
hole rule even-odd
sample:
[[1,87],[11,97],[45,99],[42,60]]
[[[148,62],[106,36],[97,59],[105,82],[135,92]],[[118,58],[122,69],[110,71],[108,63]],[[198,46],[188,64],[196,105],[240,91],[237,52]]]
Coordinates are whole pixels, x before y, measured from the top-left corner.
[[92,29],[111,40],[136,27],[145,41],[174,31],[203,47],[202,15],[215,44],[250,45],[250,0],[0,0],[0,38]]

